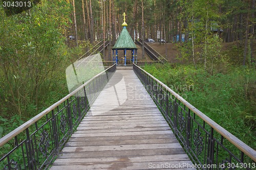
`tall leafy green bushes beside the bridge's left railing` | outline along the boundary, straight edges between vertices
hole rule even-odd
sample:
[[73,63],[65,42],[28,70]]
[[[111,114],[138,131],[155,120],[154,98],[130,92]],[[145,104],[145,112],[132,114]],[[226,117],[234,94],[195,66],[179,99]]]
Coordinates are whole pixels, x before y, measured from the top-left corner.
[[1,136],[68,94],[65,69],[77,58],[66,45],[70,11],[64,0],[10,17],[0,6]]

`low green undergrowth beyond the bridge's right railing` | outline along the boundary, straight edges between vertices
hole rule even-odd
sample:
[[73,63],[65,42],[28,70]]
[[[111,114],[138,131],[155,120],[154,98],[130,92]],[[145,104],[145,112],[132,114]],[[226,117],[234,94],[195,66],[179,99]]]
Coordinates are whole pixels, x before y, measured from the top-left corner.
[[190,65],[155,64],[144,69],[255,149],[256,71],[228,67],[225,74]]

